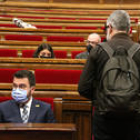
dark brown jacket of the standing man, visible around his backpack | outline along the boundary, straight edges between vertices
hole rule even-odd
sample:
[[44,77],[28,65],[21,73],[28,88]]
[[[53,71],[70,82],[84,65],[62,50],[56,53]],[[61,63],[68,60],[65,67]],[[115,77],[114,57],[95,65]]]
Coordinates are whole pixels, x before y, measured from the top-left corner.
[[[112,37],[108,44],[114,50],[117,48],[117,46],[122,46],[129,49],[134,42],[127,34],[118,33]],[[91,50],[79,81],[78,91],[80,95],[90,100],[95,98],[95,90],[98,86],[98,82],[100,81],[104,64],[108,59],[108,54],[102,49],[101,46],[97,45]],[[140,50],[135,53],[133,59],[136,62],[140,73]]]

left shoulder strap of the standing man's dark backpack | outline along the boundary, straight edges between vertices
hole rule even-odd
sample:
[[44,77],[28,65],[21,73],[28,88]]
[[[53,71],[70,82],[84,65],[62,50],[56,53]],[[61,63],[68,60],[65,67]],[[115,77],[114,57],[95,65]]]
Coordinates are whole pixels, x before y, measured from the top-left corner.
[[109,57],[112,57],[114,50],[108,45],[107,42],[102,42],[102,43],[99,43],[98,45],[101,46],[103,48],[103,50],[105,50],[107,52]]

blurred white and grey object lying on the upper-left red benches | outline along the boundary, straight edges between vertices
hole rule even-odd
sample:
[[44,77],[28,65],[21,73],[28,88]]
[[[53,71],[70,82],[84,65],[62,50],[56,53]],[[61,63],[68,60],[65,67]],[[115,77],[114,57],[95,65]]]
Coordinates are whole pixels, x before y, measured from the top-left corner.
[[18,19],[18,18],[13,18],[13,22],[16,26],[20,27],[20,28],[31,28],[31,29],[37,29],[35,26],[29,24],[29,23],[26,23],[24,21],[22,21],[21,19]]

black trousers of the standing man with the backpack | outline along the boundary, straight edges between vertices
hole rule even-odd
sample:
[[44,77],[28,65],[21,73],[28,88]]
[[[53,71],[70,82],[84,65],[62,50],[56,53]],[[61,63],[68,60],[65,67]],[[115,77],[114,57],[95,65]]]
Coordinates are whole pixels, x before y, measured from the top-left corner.
[[94,140],[138,140],[139,119],[135,115],[100,115],[95,111],[92,120]]

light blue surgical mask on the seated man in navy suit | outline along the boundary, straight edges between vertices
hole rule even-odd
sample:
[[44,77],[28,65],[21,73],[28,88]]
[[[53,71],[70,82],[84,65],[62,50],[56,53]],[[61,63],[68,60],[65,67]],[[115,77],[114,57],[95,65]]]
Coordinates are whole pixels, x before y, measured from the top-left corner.
[[18,103],[24,103],[24,102],[28,101],[27,90],[23,90],[23,89],[19,89],[19,88],[13,89],[12,98]]

